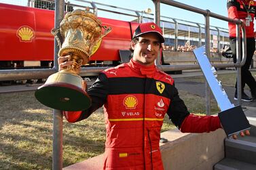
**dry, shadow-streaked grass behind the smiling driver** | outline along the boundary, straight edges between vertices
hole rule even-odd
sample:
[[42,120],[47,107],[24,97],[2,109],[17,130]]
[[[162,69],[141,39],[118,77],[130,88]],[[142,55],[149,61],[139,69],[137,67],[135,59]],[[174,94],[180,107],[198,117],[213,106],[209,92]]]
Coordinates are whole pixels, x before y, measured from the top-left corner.
[[[205,112],[204,98],[179,93],[190,112]],[[218,112],[211,102],[211,112]],[[52,109],[37,102],[34,91],[1,93],[0,103],[0,169],[52,169]],[[63,167],[104,152],[102,108],[79,123],[63,120]],[[172,128],[166,116],[162,131]]]

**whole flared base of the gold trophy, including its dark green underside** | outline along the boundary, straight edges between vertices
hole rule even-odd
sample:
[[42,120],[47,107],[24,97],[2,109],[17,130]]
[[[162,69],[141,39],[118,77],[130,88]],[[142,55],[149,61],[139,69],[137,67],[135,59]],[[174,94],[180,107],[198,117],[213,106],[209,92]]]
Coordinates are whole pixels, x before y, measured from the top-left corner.
[[90,96],[83,89],[83,79],[65,71],[50,75],[45,84],[35,91],[35,98],[57,110],[86,110],[91,105]]

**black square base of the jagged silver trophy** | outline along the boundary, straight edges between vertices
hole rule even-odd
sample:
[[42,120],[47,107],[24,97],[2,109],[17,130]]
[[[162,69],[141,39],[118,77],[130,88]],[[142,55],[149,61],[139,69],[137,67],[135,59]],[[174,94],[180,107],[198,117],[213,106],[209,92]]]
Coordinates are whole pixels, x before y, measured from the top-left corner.
[[251,125],[246,119],[241,106],[236,106],[234,108],[219,112],[218,116],[227,137],[251,128]]

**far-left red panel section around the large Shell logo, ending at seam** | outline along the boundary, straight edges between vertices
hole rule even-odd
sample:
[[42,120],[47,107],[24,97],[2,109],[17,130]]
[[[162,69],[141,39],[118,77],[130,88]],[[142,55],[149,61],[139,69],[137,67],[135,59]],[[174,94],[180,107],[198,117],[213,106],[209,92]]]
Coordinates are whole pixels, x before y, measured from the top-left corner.
[[24,10],[24,7],[14,9],[13,6],[0,4],[0,16],[3,16],[0,20],[1,60],[31,60],[35,50],[35,39],[22,41],[17,31],[20,27],[26,26],[35,34],[34,12],[30,9]]

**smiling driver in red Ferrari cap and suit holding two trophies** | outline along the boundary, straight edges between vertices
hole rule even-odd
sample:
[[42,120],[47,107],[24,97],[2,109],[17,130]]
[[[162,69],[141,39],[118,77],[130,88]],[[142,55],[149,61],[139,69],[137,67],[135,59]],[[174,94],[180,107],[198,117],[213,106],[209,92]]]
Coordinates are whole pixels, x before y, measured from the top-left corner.
[[[156,68],[162,43],[162,30],[156,24],[140,24],[132,37],[130,62],[103,71],[88,89],[92,106],[82,112],[63,112],[69,122],[77,122],[104,105],[104,169],[164,169],[159,142],[166,113],[182,132],[221,128],[218,116],[189,114],[172,77]],[[60,69],[71,64],[68,58],[59,58]]]

